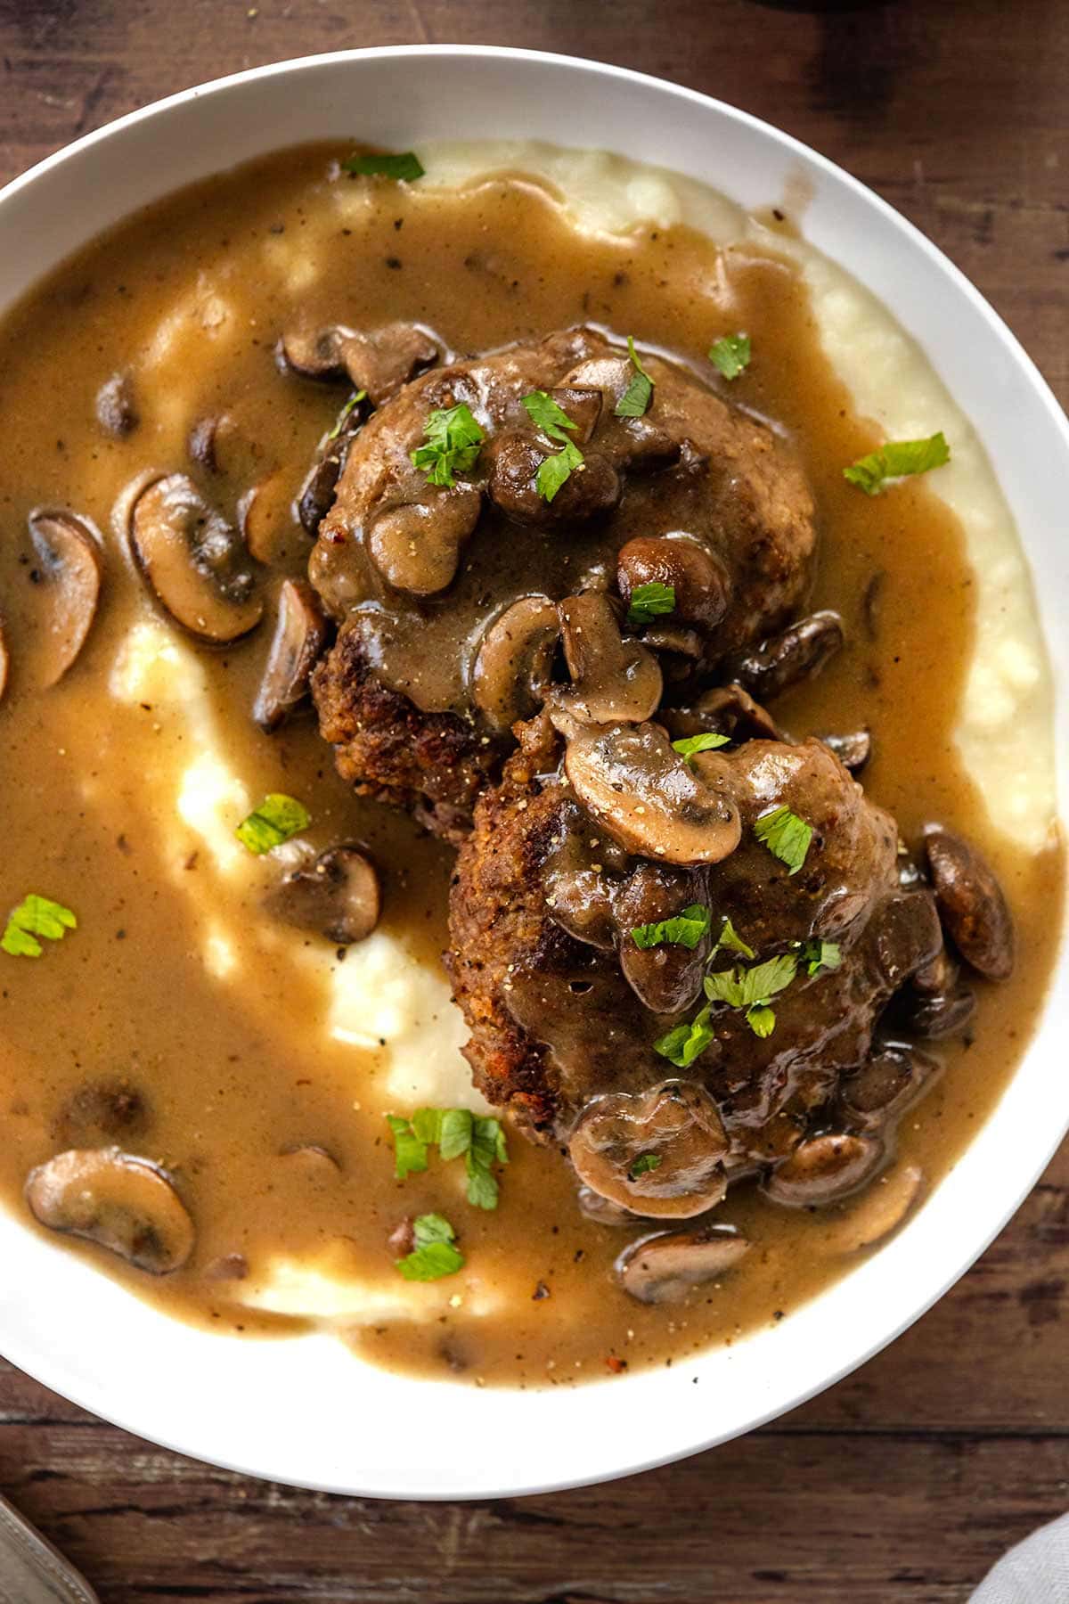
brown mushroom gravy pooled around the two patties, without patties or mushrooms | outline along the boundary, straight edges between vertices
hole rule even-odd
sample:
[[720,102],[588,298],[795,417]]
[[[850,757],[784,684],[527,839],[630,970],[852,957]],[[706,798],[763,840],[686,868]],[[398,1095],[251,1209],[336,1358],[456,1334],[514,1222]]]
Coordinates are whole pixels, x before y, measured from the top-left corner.
[[[119,1144],[159,1163],[196,1227],[180,1269],[151,1277],[99,1246],[64,1246],[221,1330],[330,1320],[377,1363],[511,1384],[678,1362],[779,1320],[954,1163],[1040,1006],[1061,850],[1024,850],[995,831],[962,768],[954,736],[974,611],[962,529],[922,480],[875,499],[843,480],[878,436],[822,354],[785,255],[718,250],[684,226],[587,236],[521,176],[422,191],[338,176],[338,154],[285,152],[152,207],[66,263],[0,329],[3,897],[14,906],[40,892],[79,919],[38,959],[0,954],[0,1187],[27,1217],[27,1173],[66,1148]],[[495,1211],[465,1203],[455,1165],[393,1177],[385,1113],[471,1102],[462,1079],[450,1096],[420,1079],[428,1041],[444,1038],[450,1062],[463,1041],[444,982],[413,982],[389,1012],[391,964],[402,978],[412,966],[439,974],[452,853],[353,797],[308,717],[271,735],[250,717],[279,587],[308,566],[292,502],[346,396],[276,366],[295,318],[356,329],[412,319],[455,351],[590,322],[614,343],[633,334],[664,350],[774,420],[817,502],[813,605],[838,610],[846,629],[843,651],[779,699],[776,717],[797,736],[869,727],[865,792],[910,844],[930,820],[966,834],[1013,908],[1015,977],[979,982],[970,1036],[936,1044],[942,1075],[907,1115],[894,1165],[821,1211],[777,1209],[736,1185],[721,1214],[755,1251],[680,1306],[633,1302],[615,1285],[612,1261],[647,1227],[583,1217],[555,1150],[510,1132]],[[728,387],[705,353],[737,329],[753,361]],[[212,451],[194,441],[191,452],[212,419],[224,420]],[[112,525],[146,473],[188,475],[231,521],[244,504],[264,603],[245,638],[207,648],[154,605]],[[27,523],[40,508],[91,520],[106,552],[96,618],[61,678],[74,626],[56,611],[58,589],[77,568],[85,605],[93,576],[77,536]],[[301,858],[293,847],[250,858],[232,829],[280,791],[311,813],[301,840],[317,852],[357,842],[378,866],[383,917],[365,943],[335,953],[264,911],[280,866]],[[338,988],[354,974],[340,1025]],[[420,1007],[436,1017],[405,1036]],[[466,1264],[413,1286],[388,1238],[423,1211],[449,1214]]]

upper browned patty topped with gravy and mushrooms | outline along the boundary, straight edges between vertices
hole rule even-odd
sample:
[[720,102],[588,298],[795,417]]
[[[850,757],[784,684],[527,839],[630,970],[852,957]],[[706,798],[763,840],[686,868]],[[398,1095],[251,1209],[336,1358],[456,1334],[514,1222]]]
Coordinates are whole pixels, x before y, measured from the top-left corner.
[[[309,577],[338,622],[313,691],[340,772],[458,836],[479,788],[561,677],[551,603],[670,584],[670,618],[635,622],[667,699],[782,629],[805,602],[813,499],[789,444],[684,369],[643,358],[643,417],[614,411],[635,369],[591,329],[431,369],[351,436]],[[535,488],[559,441],[521,401],[551,391],[585,464]],[[436,409],[466,404],[473,467],[431,484],[410,459]],[[335,448],[337,451],[337,448]]]

